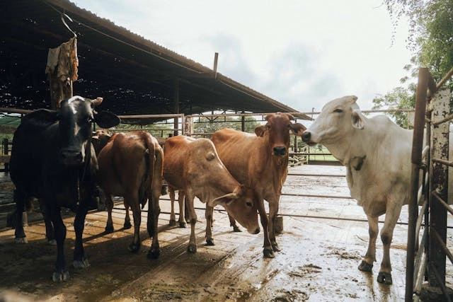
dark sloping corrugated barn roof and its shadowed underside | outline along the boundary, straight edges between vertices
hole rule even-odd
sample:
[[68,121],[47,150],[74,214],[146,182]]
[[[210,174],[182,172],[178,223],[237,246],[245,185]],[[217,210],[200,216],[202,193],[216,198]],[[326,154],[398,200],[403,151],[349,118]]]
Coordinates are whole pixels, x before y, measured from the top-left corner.
[[202,66],[67,0],[4,1],[0,22],[1,108],[51,108],[47,53],[76,35],[74,95],[103,97],[100,110],[117,115],[297,111],[218,73],[215,64]]

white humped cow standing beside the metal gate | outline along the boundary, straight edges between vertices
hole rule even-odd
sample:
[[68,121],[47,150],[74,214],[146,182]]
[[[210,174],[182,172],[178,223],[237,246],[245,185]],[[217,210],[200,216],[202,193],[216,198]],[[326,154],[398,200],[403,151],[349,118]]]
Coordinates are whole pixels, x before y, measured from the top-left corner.
[[367,118],[355,95],[324,105],[302,135],[308,144],[323,144],[347,168],[351,197],[363,207],[369,225],[369,243],[359,269],[371,272],[376,261],[378,218],[386,214],[381,240],[384,246],[377,281],[391,284],[390,243],[403,204],[408,204],[411,182],[412,131],[385,115]]

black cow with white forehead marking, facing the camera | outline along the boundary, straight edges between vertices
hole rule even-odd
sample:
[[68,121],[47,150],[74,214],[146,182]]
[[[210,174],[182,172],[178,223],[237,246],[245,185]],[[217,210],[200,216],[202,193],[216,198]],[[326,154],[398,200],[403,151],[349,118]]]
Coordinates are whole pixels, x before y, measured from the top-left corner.
[[[102,98],[89,100],[74,96],[62,100],[59,110],[35,110],[25,115],[13,137],[10,175],[16,190],[16,242],[26,243],[22,224],[25,202],[39,198],[55,228],[57,261],[53,281],[69,278],[64,259],[66,227],[61,207],[76,212],[74,230],[74,267],[88,267],[82,233],[89,208],[96,208],[94,191],[98,162],[91,144],[93,122],[102,128],[116,126],[120,119],[109,112],[97,113],[94,108]],[[47,234],[49,235],[49,234]]]

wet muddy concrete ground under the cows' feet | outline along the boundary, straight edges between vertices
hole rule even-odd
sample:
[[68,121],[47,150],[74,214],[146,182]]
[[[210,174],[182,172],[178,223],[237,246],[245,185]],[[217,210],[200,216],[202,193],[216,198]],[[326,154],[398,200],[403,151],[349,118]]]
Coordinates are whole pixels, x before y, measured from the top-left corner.
[[[122,229],[124,211],[117,204],[115,233],[103,233],[105,211],[88,214],[84,246],[91,267],[81,271],[70,267],[71,279],[63,284],[51,281],[55,246],[45,240],[44,223],[30,222],[25,228],[29,243],[16,245],[13,230],[4,227],[4,215],[0,216],[0,291],[20,295],[24,301],[403,301],[406,207],[391,248],[394,284],[382,285],[376,281],[382,257],[379,240],[373,273],[357,269],[367,247],[367,222],[362,209],[347,198],[345,178],[306,175],[345,175],[343,167],[302,165],[289,172],[297,175],[289,175],[285,182],[280,202],[284,230],[277,237],[282,251],[273,259],[263,258],[263,233],[232,232],[224,211],[214,212],[216,245],[206,246],[200,202],[197,253],[188,253],[190,228],[168,226],[166,195],[161,198],[158,260],[146,257],[151,244],[146,213],[142,213],[142,249],[137,254],[127,250],[133,231]],[[310,196],[295,196],[302,194]],[[73,220],[71,216],[64,219],[69,263],[75,238]],[[448,236],[451,243],[451,229]],[[447,276],[453,287],[451,266]],[[17,301],[17,296],[11,301]]]

